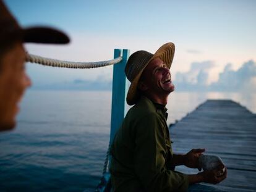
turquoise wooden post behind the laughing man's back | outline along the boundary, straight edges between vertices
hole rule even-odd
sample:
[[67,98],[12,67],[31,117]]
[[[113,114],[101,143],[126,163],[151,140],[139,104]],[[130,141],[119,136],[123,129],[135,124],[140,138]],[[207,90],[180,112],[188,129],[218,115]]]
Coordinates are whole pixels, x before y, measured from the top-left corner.
[[[121,49],[114,49],[114,58],[119,57]],[[122,61],[114,65],[113,69],[113,87],[112,87],[112,111],[111,111],[111,130],[110,144],[112,144],[114,135],[120,127],[126,112],[126,94],[127,94],[127,79],[124,69],[129,58],[130,51],[122,50]]]

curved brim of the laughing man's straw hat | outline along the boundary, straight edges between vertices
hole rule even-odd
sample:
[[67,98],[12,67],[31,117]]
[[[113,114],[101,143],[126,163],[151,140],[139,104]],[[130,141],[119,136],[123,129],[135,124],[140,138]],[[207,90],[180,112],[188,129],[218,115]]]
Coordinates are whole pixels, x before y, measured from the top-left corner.
[[137,85],[140,80],[140,76],[142,75],[143,70],[147,67],[147,65],[156,58],[160,58],[164,64],[170,69],[171,64],[173,63],[173,57],[174,57],[174,52],[175,52],[175,45],[173,43],[166,43],[163,44],[153,55],[153,57],[147,62],[145,67],[138,73],[138,75],[134,78],[132,83],[130,84],[127,97],[126,97],[126,102],[130,106],[134,105],[137,100],[139,99],[139,93],[137,90]]

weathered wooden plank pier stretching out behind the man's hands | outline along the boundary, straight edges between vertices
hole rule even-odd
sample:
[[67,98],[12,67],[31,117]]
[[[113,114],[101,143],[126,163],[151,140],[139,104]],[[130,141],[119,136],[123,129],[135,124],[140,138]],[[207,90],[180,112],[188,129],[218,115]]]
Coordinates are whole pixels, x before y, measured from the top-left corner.
[[[228,178],[211,186],[224,191],[256,191],[255,133],[256,114],[231,100],[208,100],[170,127],[174,152],[205,148],[205,154],[221,157]],[[198,172],[184,166],[176,170]]]

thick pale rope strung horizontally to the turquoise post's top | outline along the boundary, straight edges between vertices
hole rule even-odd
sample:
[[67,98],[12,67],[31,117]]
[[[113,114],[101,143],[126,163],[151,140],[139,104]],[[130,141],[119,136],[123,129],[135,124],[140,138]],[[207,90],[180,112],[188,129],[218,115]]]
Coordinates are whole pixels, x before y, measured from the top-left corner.
[[65,67],[65,68],[75,68],[75,69],[90,69],[96,67],[105,67],[108,65],[114,65],[122,61],[122,57],[119,56],[116,59],[109,61],[98,61],[98,62],[72,62],[72,61],[61,61],[58,59],[49,59],[46,57],[35,56],[32,54],[27,54],[27,62],[32,62],[41,65],[47,65],[52,67]]

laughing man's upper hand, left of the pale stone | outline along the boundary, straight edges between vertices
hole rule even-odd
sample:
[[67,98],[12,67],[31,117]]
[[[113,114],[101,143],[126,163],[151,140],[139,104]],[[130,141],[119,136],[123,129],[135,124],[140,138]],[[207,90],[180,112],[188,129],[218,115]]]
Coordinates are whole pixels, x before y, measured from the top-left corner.
[[205,149],[192,149],[184,156],[184,165],[190,168],[201,170],[198,163],[198,157],[205,152]]

